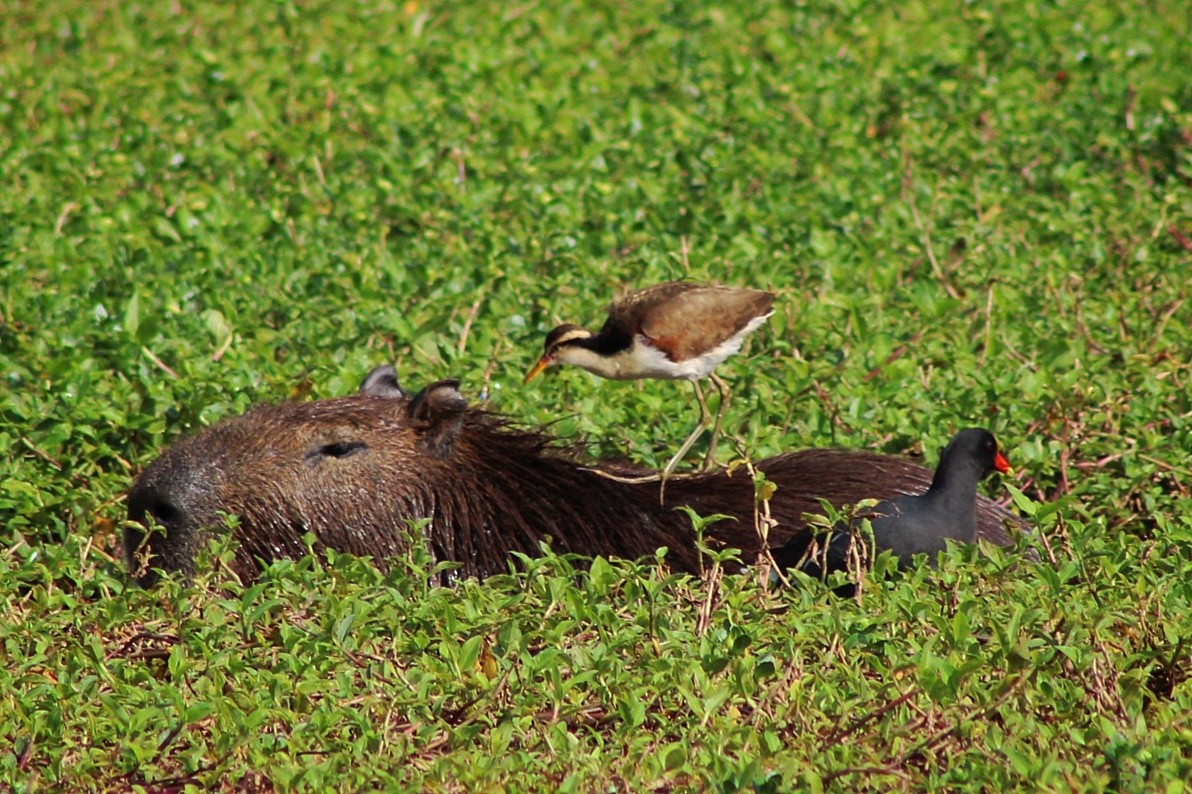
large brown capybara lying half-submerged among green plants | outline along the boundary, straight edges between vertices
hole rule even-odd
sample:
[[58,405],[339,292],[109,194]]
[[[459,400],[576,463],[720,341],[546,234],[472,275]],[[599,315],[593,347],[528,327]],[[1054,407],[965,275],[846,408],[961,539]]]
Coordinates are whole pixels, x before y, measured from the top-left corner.
[[[843,505],[921,492],[932,476],[901,458],[848,449],[791,452],[756,467],[777,485],[771,546],[806,532],[803,514],[820,511],[820,498]],[[261,405],[167,449],[129,494],[129,517],[147,525],[153,516],[164,532],[130,527],[125,553],[144,584],[155,575],[137,560],[143,552],[153,567],[193,576],[195,552],[231,514],[234,567],[243,577],[304,554],[305,533],[316,548],[367,554],[384,567],[426,520],[427,548],[459,563],[455,576],[504,572],[510,552],[536,556],[546,540],[557,552],[623,558],[665,546],[669,565],[690,572],[700,564],[695,535],[676,510],[690,505],[731,516],[709,527],[707,540],[755,560],[756,489],[745,470],[678,477],[665,505],[657,483],[607,476],[640,473],[583,465],[550,435],[468,408],[457,380],[409,395],[384,366],[350,397]],[[980,500],[981,538],[1005,545],[1007,521],[1017,519]]]

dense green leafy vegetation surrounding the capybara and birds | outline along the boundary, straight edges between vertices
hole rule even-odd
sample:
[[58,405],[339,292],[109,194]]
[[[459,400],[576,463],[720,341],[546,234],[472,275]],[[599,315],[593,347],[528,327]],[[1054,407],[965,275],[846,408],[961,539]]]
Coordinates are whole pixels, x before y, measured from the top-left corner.
[[[1186,4],[0,14],[0,788],[1192,780]],[[125,581],[159,451],[386,361],[659,465],[688,390],[520,377],[684,275],[780,293],[722,368],[743,449],[988,426],[1044,564],[957,550],[859,603],[712,559]]]

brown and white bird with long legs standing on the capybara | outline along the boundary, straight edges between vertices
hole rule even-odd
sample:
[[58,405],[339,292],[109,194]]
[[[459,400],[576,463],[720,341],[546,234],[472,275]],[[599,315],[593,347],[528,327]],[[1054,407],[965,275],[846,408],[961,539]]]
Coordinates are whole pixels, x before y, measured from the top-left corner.
[[709,378],[720,392],[703,464],[712,466],[730,395],[728,384],[713,370],[772,314],[774,294],[760,290],[691,281],[646,287],[615,300],[598,333],[565,323],[547,334],[542,356],[526,373],[524,383],[553,364],[572,364],[614,380],[690,380],[700,403],[700,423],[658,476],[665,489],[675,466],[708,428],[710,412],[701,378]]

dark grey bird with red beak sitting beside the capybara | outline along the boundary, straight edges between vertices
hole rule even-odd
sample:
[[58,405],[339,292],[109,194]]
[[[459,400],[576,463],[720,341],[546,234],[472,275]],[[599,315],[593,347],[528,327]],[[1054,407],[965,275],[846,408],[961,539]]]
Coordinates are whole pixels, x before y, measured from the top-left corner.
[[[976,542],[976,489],[994,471],[1008,474],[1012,470],[993,434],[981,428],[961,430],[944,447],[925,494],[880,502],[856,520],[869,519],[875,548],[894,552],[902,567],[914,554],[929,554],[933,564],[946,540]],[[825,564],[828,571],[846,570],[853,536],[849,527],[837,526],[827,538],[826,553],[809,556],[811,536],[801,535],[776,550],[774,560],[808,576],[820,576]]]

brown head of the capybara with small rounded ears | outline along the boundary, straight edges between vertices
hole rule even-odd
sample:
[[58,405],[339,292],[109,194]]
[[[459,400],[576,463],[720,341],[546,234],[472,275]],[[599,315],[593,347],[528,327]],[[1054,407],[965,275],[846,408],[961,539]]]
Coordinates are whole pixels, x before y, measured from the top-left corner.
[[[125,529],[130,565],[143,567],[134,558],[149,552],[153,566],[192,576],[197,551],[225,515],[241,522],[242,575],[250,575],[254,558],[302,556],[306,532],[321,545],[360,554],[402,552],[409,526],[378,502],[404,495],[412,502],[409,515],[423,514],[411,467],[423,454],[420,447],[435,442],[412,426],[433,412],[453,411],[458,421],[464,408],[449,382],[420,397],[418,410],[408,410],[414,407],[393,370],[380,367],[353,397],[261,405],[184,439],[145,469],[129,494],[129,517],[142,525],[151,517],[164,532]],[[449,424],[440,422],[439,429]],[[405,484],[401,494],[393,483]],[[145,572],[143,581],[153,578]]]

